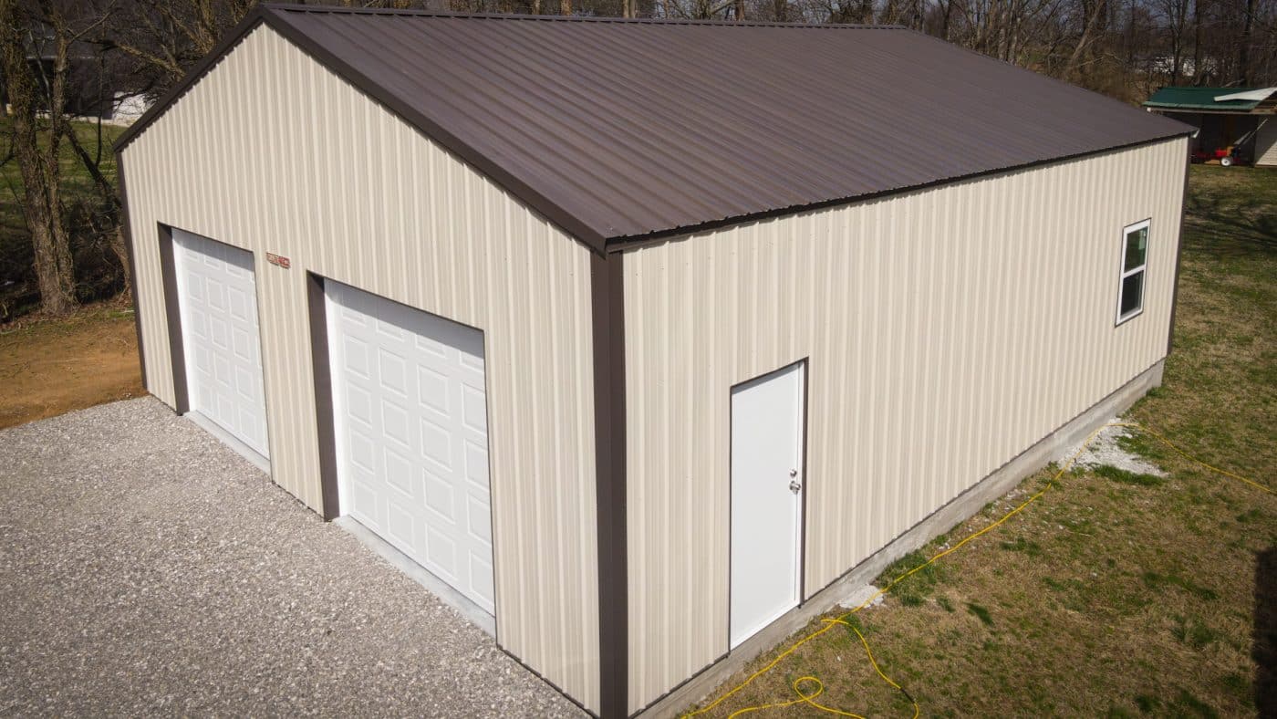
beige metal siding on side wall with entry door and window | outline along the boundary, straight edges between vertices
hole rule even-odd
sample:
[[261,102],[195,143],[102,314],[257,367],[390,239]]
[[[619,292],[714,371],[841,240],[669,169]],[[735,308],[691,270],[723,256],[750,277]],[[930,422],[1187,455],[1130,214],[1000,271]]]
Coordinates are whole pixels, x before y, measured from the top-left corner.
[[[1185,152],[626,254],[631,709],[728,650],[730,387],[810,358],[810,595],[1166,354]],[[1121,231],[1145,218],[1145,310],[1115,327]]]

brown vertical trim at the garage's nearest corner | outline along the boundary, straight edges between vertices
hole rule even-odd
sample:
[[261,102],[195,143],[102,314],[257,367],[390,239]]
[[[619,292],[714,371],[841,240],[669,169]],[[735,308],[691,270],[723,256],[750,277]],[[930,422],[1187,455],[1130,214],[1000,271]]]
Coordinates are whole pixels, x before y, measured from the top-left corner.
[[599,716],[627,716],[626,333],[622,253],[590,255],[595,496],[599,552]]

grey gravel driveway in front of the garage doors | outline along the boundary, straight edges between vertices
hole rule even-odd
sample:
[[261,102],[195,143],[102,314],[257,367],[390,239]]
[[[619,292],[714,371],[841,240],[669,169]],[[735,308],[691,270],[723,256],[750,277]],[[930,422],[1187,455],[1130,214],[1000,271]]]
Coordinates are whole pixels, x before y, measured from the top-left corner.
[[581,715],[155,398],[0,432],[0,714]]

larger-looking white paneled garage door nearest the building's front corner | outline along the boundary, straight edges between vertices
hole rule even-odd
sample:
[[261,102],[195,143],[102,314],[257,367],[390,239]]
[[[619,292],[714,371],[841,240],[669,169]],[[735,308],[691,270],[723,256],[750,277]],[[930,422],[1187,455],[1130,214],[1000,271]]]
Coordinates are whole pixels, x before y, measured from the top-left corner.
[[326,291],[341,512],[492,614],[483,335]]

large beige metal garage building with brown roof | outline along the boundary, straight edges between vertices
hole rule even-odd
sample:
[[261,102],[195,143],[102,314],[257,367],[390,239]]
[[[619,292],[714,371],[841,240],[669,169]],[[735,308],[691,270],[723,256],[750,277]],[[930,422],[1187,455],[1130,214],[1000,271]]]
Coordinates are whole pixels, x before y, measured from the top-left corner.
[[664,711],[1160,381],[1188,132],[898,28],[266,6],[119,144],[143,375]]

